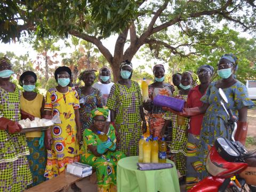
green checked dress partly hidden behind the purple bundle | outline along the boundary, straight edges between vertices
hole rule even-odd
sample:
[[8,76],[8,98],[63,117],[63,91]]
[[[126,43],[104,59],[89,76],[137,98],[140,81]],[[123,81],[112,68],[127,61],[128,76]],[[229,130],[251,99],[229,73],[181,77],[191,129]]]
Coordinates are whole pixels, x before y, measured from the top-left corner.
[[[188,95],[182,95],[179,93],[179,90],[177,90],[174,91],[173,97],[187,101]],[[171,157],[173,158],[177,169],[181,176],[185,176],[189,118],[175,115],[170,111],[166,111],[163,118],[172,121],[172,143],[167,146],[167,153],[170,151],[170,153],[173,154]],[[177,121],[179,118],[182,120],[183,125],[178,125]]]

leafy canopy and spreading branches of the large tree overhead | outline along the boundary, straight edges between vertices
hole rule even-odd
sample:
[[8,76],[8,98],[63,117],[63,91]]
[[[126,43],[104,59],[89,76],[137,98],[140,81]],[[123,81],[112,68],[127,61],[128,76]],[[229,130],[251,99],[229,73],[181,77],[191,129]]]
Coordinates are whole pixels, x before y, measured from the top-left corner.
[[[148,45],[156,57],[162,49],[167,49],[171,55],[193,58],[202,54],[197,47],[213,49],[212,34],[225,22],[237,30],[255,32],[253,2],[5,1],[0,7],[0,38],[9,42],[24,30],[35,31],[38,37],[74,35],[98,47],[117,80],[119,63],[132,60],[143,45]],[[110,34],[118,34],[114,54],[102,44],[102,38]],[[125,44],[128,44],[126,50]]]

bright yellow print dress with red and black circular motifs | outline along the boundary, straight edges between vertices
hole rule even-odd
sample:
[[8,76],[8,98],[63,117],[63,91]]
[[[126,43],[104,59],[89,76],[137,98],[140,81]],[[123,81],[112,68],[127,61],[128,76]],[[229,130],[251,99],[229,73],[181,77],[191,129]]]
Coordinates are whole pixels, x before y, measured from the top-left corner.
[[54,124],[51,127],[52,150],[47,150],[44,173],[47,179],[57,177],[65,171],[67,164],[79,161],[74,111],[78,108],[78,94],[71,87],[68,87],[66,93],[58,92],[55,87],[47,91],[45,110],[51,110],[53,116],[60,115],[61,120],[61,124]]

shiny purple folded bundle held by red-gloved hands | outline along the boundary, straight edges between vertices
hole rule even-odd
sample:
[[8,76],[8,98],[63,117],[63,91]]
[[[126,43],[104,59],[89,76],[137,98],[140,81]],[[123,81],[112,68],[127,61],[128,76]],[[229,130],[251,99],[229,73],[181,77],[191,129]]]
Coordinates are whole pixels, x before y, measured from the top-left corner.
[[155,106],[170,107],[171,109],[179,112],[182,111],[185,105],[185,101],[182,99],[167,97],[164,95],[156,95],[156,97],[153,100],[153,103]]

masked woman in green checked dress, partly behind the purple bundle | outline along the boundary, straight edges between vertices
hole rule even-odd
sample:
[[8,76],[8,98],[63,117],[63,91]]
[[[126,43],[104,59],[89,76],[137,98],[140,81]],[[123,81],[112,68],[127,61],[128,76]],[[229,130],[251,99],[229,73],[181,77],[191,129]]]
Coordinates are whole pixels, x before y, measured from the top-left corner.
[[[191,84],[193,83],[193,75],[190,71],[182,73],[180,87],[181,90],[175,90],[173,97],[187,101],[188,92],[190,91]],[[165,108],[164,108],[165,110]],[[171,157],[175,161],[175,165],[179,170],[182,181],[186,177],[186,156],[187,156],[187,131],[189,118],[181,117],[166,111],[163,116],[166,121],[172,121],[172,143],[167,146],[167,153],[171,153]],[[165,131],[165,126],[162,132]]]

